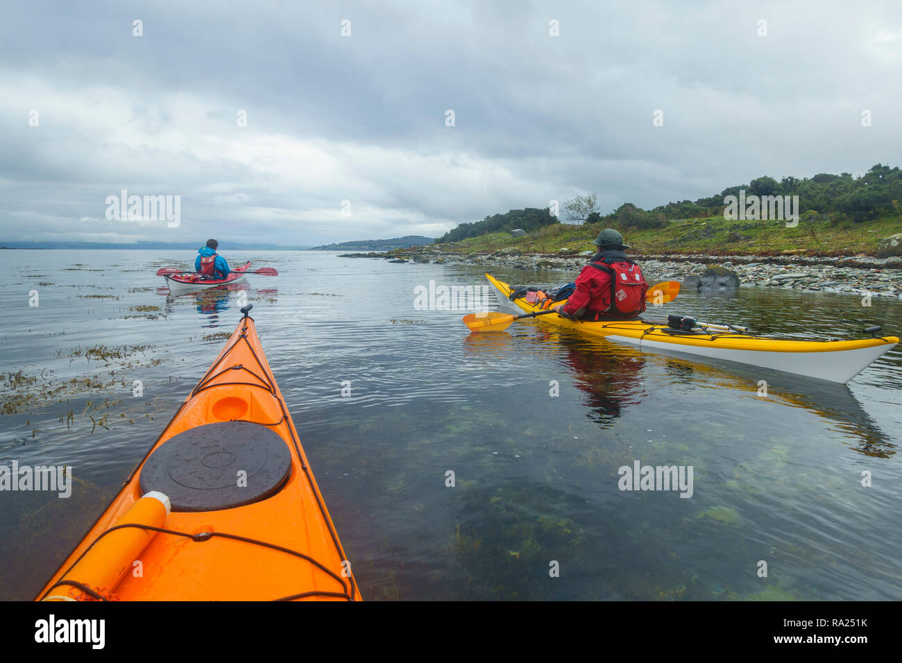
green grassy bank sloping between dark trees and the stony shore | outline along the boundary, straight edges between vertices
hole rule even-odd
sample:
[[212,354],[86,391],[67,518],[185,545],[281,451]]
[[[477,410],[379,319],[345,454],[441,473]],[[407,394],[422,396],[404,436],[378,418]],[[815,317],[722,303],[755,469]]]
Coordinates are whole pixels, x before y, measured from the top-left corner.
[[[616,227],[616,226],[615,226]],[[515,248],[523,253],[555,253],[558,249],[586,251],[603,230],[601,224],[543,226],[522,237],[492,233],[457,242],[436,244],[441,251],[493,252]],[[728,221],[723,216],[678,219],[661,229],[618,228],[633,248],[631,253],[772,254],[800,253],[854,255],[877,252],[880,239],[902,232],[902,217],[884,216],[854,223],[824,218],[802,218],[787,228],[783,221]]]

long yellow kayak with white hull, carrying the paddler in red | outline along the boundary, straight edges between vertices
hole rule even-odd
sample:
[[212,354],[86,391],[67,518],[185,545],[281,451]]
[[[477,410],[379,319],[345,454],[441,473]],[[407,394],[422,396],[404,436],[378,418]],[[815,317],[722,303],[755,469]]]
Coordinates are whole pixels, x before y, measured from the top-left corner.
[[[492,274],[487,273],[485,277],[498,289],[500,296],[510,299],[513,291],[510,285],[499,281]],[[525,298],[512,299],[512,302],[528,313],[541,310]],[[537,319],[557,327],[570,327],[585,334],[636,345],[640,350],[709,357],[830,382],[849,382],[899,342],[896,336],[853,341],[790,341],[752,336],[726,327],[711,333],[701,329],[686,331],[642,319],[584,322],[561,318],[555,314]]]

